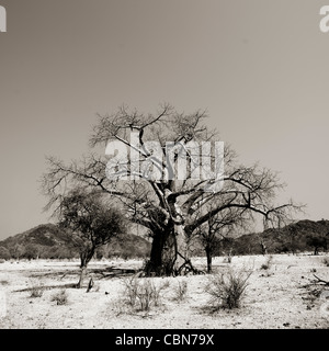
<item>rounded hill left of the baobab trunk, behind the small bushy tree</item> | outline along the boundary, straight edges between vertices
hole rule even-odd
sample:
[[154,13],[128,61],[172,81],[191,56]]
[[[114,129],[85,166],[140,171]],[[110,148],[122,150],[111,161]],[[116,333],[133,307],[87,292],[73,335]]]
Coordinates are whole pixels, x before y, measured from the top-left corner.
[[[98,258],[147,257],[149,250],[149,241],[127,234],[122,238],[113,238],[110,244],[100,248],[95,256]],[[0,259],[70,259],[77,257],[79,252],[72,245],[70,235],[54,224],[43,224],[0,241]]]

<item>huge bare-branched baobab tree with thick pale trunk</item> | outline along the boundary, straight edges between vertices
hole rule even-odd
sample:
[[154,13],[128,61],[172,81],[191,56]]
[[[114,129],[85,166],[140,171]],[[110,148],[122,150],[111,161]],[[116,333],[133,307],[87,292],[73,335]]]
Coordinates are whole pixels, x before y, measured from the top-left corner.
[[226,144],[218,151],[218,134],[206,117],[201,111],[179,113],[169,104],[156,114],[122,106],[98,115],[90,147],[102,146],[105,155],[90,154],[70,165],[49,157],[43,178],[48,205],[70,184],[98,189],[117,199],[129,220],[151,234],[147,274],[195,272],[188,242],[209,218],[238,210],[275,226],[298,208],[293,202],[275,205],[283,185],[274,172],[239,165]]

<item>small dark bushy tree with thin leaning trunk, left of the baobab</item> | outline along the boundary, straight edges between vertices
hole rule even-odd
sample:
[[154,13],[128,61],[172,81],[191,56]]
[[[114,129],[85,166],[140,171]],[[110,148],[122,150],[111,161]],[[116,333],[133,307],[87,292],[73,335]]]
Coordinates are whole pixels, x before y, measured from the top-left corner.
[[60,227],[71,233],[79,250],[81,273],[77,287],[81,287],[95,250],[112,237],[125,234],[127,222],[102,193],[83,189],[71,190],[59,201],[56,212]]

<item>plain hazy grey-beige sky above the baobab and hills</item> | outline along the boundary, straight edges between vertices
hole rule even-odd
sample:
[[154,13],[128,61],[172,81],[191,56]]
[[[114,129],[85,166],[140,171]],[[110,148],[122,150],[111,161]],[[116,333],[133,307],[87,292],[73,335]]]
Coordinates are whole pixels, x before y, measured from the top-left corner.
[[123,103],[207,109],[279,201],[329,219],[329,33],[317,0],[0,0],[0,239],[48,222],[46,155],[88,151],[95,113]]

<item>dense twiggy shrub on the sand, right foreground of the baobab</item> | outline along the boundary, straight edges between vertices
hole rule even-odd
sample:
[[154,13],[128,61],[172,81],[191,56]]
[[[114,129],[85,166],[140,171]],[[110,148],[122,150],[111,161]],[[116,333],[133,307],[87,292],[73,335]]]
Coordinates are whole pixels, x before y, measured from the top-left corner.
[[248,286],[251,272],[229,270],[227,273],[216,273],[209,278],[205,292],[211,295],[209,304],[219,308],[239,308]]

